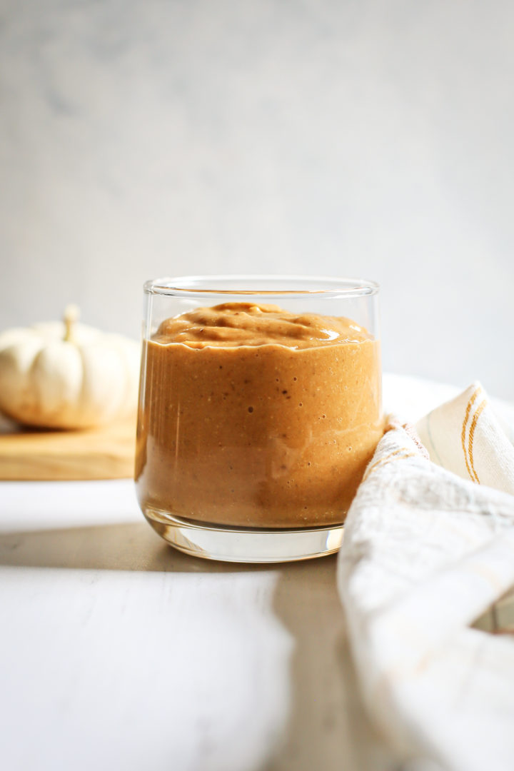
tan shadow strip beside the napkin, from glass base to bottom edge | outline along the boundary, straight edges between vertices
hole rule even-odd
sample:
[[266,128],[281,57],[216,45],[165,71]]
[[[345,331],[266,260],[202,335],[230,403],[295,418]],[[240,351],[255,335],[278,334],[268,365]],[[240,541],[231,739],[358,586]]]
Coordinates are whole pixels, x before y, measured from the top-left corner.
[[294,637],[291,709],[265,771],[391,771],[385,743],[368,721],[348,647],[336,557],[288,565],[274,611]]

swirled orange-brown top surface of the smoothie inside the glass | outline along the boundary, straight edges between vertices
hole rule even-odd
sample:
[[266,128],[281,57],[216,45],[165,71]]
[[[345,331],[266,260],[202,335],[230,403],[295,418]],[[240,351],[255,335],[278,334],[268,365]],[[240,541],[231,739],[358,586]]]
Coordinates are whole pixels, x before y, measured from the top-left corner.
[[373,338],[350,318],[295,314],[278,305],[226,302],[167,318],[152,339],[161,345],[183,343],[190,348],[244,345],[317,348]]

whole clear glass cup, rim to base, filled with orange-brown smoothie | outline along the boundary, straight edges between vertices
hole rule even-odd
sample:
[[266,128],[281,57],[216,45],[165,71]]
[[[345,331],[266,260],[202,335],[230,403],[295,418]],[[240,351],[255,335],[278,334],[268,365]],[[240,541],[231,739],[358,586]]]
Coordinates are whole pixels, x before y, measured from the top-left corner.
[[383,432],[378,285],[186,276],[144,293],[135,478],[149,523],[217,560],[338,550]]

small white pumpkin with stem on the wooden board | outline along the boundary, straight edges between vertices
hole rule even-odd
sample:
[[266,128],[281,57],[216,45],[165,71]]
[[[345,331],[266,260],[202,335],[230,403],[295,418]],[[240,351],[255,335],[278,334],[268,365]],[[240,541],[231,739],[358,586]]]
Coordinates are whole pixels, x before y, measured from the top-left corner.
[[29,426],[98,426],[136,411],[139,344],[79,324],[69,306],[64,322],[0,334],[0,411]]

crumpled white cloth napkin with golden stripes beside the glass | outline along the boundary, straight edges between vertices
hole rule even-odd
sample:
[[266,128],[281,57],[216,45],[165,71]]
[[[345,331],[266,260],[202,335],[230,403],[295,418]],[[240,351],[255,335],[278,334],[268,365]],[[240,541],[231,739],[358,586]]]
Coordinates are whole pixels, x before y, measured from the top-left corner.
[[418,430],[391,418],[345,524],[358,681],[401,761],[510,771],[514,640],[471,625],[514,584],[514,448],[479,384]]

